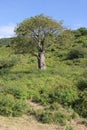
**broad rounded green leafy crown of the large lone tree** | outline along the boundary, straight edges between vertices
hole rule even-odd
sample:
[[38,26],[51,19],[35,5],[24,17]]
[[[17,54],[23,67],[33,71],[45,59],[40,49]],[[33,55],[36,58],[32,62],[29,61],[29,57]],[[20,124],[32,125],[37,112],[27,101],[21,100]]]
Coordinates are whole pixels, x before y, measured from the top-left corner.
[[32,50],[45,50],[53,43],[55,35],[60,34],[62,30],[61,22],[41,14],[25,19],[17,26],[15,32],[19,38],[24,39],[24,44],[28,43],[29,48],[32,47]]

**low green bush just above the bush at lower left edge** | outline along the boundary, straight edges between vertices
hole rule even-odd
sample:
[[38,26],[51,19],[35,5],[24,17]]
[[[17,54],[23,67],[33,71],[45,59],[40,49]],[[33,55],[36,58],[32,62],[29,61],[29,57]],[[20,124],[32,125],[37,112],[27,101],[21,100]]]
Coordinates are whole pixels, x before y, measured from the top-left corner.
[[17,99],[26,99],[28,97],[28,89],[26,87],[7,87],[5,92],[12,94]]

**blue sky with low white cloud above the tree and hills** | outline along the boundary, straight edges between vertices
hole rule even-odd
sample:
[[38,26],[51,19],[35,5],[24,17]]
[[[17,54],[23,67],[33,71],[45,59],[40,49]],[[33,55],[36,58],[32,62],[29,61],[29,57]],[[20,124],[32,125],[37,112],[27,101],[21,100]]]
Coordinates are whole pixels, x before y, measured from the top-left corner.
[[18,23],[42,13],[71,29],[87,27],[87,0],[0,0],[0,38],[13,36]]

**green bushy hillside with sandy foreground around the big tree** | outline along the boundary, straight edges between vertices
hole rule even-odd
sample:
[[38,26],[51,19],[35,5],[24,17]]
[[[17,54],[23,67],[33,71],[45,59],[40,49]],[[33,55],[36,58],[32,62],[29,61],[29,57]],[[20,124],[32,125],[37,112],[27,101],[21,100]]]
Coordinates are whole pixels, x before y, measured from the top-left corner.
[[87,129],[87,35],[75,36],[48,50],[46,70],[1,40],[0,130]]

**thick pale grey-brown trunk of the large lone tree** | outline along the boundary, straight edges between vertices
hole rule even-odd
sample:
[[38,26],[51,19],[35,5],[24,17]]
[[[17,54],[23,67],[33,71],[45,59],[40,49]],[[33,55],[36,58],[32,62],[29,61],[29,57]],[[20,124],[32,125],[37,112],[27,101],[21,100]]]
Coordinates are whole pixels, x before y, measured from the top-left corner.
[[46,62],[45,62],[45,52],[38,53],[38,68],[45,70],[46,69]]

